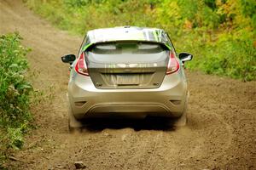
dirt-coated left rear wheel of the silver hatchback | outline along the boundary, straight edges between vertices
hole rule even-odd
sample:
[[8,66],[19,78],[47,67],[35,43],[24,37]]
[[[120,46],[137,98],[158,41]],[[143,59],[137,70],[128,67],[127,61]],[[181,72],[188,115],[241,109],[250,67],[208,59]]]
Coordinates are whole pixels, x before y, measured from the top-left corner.
[[80,122],[73,116],[73,111],[70,107],[68,106],[68,130],[70,133],[73,133],[75,131],[80,131],[83,127],[83,123]]

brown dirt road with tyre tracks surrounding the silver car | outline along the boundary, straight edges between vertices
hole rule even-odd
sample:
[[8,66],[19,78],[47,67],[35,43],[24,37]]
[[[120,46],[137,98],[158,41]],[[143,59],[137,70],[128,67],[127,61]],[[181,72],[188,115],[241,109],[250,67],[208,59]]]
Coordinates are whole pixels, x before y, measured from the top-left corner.
[[[35,88],[47,96],[32,112],[38,128],[26,136],[10,169],[256,169],[256,82],[187,71],[189,122],[173,129],[157,121],[97,122],[67,131],[68,65],[83,37],[68,35],[33,14],[19,0],[0,0],[0,33],[20,31],[32,48]],[[195,55],[196,57],[196,55]]]

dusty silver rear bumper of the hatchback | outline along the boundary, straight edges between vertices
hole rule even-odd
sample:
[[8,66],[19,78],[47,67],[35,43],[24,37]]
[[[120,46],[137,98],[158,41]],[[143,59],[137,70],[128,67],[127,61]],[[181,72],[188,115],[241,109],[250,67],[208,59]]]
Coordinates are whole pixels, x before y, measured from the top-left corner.
[[76,75],[68,85],[68,100],[78,118],[104,116],[181,116],[187,83],[181,73],[164,78],[160,88],[98,89],[90,77]]

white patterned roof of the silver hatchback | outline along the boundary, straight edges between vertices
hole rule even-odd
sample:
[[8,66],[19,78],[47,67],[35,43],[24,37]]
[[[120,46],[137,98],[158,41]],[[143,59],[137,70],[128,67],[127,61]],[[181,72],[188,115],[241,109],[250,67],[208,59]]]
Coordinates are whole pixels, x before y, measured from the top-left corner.
[[167,46],[172,46],[166,31],[161,29],[137,26],[119,26],[88,31],[84,47],[99,42],[119,41],[160,42]]

